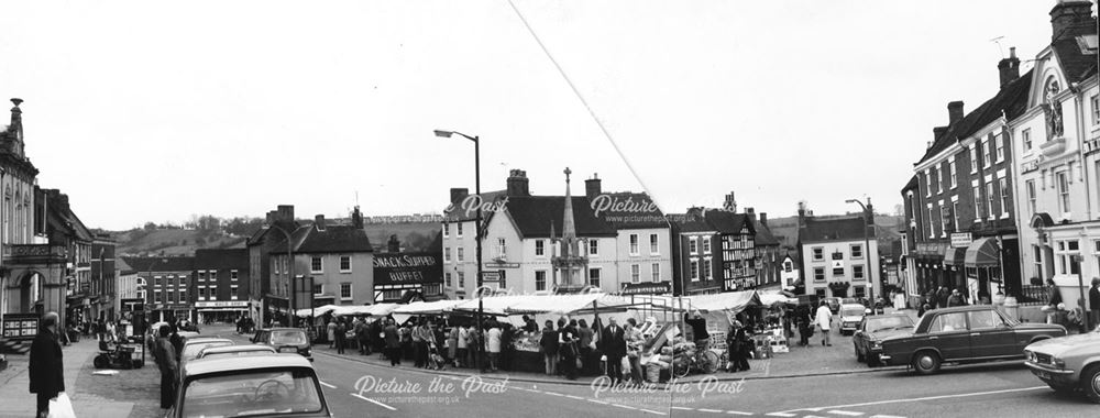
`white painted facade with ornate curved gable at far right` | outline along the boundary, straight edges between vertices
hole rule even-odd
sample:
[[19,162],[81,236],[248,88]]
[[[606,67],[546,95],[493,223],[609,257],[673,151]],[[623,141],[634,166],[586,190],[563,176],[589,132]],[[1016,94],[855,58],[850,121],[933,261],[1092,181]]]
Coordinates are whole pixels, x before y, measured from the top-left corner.
[[[1100,277],[1100,88],[1096,74],[1069,82],[1050,47],[1036,56],[1032,77],[1028,109],[1011,123],[1021,277],[1076,289],[1078,270],[1086,286]],[[1060,105],[1062,135],[1048,134],[1044,103]],[[1036,213],[1054,226],[1042,226]],[[1071,262],[1078,254],[1079,267]],[[1064,296],[1067,305],[1077,299],[1076,292]]]

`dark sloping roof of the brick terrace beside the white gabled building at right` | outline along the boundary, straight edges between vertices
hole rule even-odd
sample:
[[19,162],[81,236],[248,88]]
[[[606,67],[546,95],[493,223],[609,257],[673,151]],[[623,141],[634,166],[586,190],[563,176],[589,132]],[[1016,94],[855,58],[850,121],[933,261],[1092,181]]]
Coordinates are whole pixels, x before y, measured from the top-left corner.
[[932,144],[932,147],[924,153],[924,156],[916,164],[920,165],[928,161],[944,150],[947,150],[952,144],[959,140],[965,140],[992,123],[1001,117],[1002,110],[1010,121],[1023,114],[1027,110],[1027,89],[1031,87],[1031,73],[1028,70],[1027,74],[1009,82],[997,92],[997,96],[986,100],[977,109],[952,124],[947,132],[936,138],[935,143]]

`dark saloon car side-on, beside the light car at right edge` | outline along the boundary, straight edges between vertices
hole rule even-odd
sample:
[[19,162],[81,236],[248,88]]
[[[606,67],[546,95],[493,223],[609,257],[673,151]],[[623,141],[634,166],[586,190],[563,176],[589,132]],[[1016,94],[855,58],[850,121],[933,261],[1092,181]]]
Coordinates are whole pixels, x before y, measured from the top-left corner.
[[935,309],[912,333],[883,339],[879,361],[932,374],[944,363],[1023,360],[1027,344],[1064,336],[1062,326],[1018,322],[991,305]]

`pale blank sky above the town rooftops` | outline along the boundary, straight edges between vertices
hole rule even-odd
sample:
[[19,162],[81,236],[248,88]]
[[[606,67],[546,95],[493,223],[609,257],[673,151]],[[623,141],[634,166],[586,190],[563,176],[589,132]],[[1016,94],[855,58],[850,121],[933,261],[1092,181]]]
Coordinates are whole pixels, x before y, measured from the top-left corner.
[[0,97],[92,228],[440,212],[474,150],[437,129],[479,135],[483,190],[562,195],[568,166],[666,212],[892,212],[947,102],[992,97],[1009,46],[1026,72],[1054,3],[14,2]]

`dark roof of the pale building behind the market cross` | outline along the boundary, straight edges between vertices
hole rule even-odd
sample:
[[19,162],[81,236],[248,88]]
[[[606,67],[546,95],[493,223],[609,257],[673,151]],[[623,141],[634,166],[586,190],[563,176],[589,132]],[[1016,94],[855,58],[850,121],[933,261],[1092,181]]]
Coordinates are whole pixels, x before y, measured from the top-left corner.
[[[587,197],[573,197],[573,222],[578,237],[615,237],[616,230],[607,221],[596,218]],[[549,238],[550,227],[554,235],[562,235],[565,215],[564,196],[512,196],[506,205],[508,216],[516,222],[524,238]],[[491,217],[502,213],[491,213]]]

